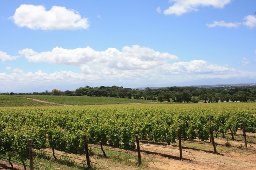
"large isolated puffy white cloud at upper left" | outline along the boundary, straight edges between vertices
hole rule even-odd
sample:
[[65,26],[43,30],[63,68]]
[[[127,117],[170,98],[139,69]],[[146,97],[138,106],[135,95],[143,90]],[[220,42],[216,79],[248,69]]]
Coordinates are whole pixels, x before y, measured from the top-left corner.
[[10,18],[17,26],[32,30],[77,30],[89,27],[87,18],[82,18],[78,12],[62,6],[52,6],[46,11],[42,5],[23,4]]

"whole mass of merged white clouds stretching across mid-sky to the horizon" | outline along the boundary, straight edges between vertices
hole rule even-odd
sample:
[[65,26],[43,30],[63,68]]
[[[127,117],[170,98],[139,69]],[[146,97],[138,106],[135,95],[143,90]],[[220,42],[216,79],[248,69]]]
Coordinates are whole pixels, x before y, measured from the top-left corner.
[[[64,49],[55,47],[52,51],[36,52],[33,49],[19,51],[29,62],[75,65],[73,71],[25,72],[20,68],[6,67],[7,73],[0,73],[0,85],[52,85],[78,84],[168,84],[198,79],[256,78],[256,72],[240,71],[227,65],[216,65],[205,60],[178,61],[176,55],[159,52],[140,45],[125,46],[119,51],[108,48],[96,51],[91,47]],[[244,58],[241,62],[246,64]],[[65,69],[65,67],[63,67]]]

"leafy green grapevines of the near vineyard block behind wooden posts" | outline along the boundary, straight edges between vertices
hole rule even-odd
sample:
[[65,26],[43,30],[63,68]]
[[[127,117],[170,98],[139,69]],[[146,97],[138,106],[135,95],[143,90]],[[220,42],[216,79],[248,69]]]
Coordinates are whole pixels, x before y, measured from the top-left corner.
[[212,129],[236,133],[245,122],[247,132],[256,132],[256,104],[151,104],[87,107],[0,108],[0,154],[28,158],[28,139],[35,149],[53,148],[84,154],[82,134],[89,143],[135,148],[140,139],[172,143],[178,137],[208,140]]

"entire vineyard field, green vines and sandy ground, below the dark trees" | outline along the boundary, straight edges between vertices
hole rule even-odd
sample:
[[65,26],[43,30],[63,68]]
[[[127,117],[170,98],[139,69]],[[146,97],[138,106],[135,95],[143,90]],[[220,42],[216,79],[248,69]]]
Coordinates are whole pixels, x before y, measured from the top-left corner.
[[[0,131],[1,155],[11,154],[14,158],[21,157],[28,161],[27,140],[31,138],[35,150],[54,148],[56,153],[79,157],[84,154],[82,134],[86,134],[89,146],[92,146],[93,158],[100,164],[94,165],[96,169],[122,167],[182,170],[256,167],[256,103],[164,102],[130,105],[124,104],[124,100],[138,101],[122,99],[118,102],[122,103],[121,105],[112,104],[114,101],[108,100],[102,102],[105,105],[96,105],[88,101],[91,97],[4,97],[0,96],[4,101],[1,102],[0,108],[0,127],[3,129]],[[27,99],[32,97],[38,101]],[[79,103],[81,99],[86,100]],[[99,102],[108,98],[94,99]],[[82,106],[86,105],[85,103],[90,104]],[[9,105],[11,107],[8,107]],[[248,135],[247,149],[243,142],[242,122],[246,125]],[[214,154],[209,142],[210,127],[214,130],[218,154]],[[183,161],[179,160],[177,150],[178,128],[182,134]],[[123,150],[136,156],[135,130],[139,132],[142,147],[143,163],[140,167],[135,158],[126,154],[117,156],[113,151],[108,151],[108,158],[104,158],[100,149],[93,148],[101,143],[105,149]],[[231,140],[232,136],[234,140]],[[44,162],[47,167],[52,166],[54,169],[60,166],[52,160],[53,158],[46,159],[47,156],[40,156],[40,153],[37,155],[39,162]],[[62,166],[62,169],[69,168]],[[77,168],[79,169],[74,169]]]

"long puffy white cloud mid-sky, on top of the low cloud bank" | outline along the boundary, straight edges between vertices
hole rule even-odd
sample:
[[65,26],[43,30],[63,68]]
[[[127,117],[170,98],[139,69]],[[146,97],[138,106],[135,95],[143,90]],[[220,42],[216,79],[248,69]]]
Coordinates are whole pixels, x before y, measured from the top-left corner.
[[132,45],[125,46],[122,51],[116,48],[108,48],[106,51],[95,51],[91,47],[64,49],[55,47],[52,51],[37,53],[32,49],[19,51],[29,62],[46,62],[66,65],[86,65],[81,68],[89,71],[88,67],[96,68],[100,65],[104,67],[116,68],[120,70],[148,69],[162,65],[168,60],[176,60],[178,57],[170,53],[160,53],[149,47]]

